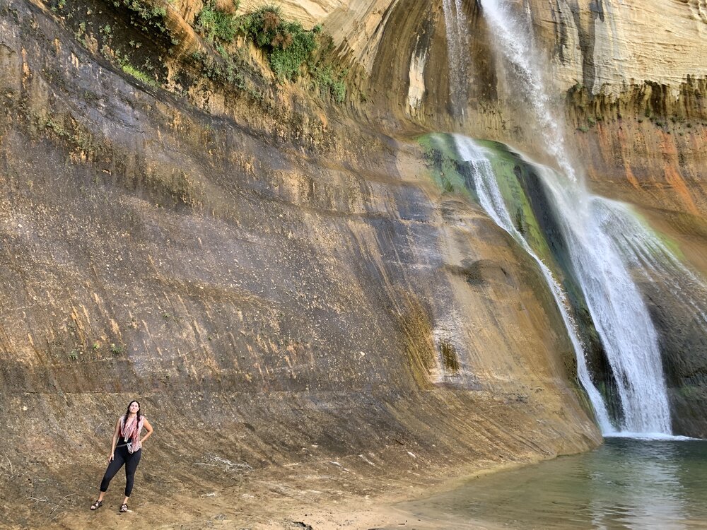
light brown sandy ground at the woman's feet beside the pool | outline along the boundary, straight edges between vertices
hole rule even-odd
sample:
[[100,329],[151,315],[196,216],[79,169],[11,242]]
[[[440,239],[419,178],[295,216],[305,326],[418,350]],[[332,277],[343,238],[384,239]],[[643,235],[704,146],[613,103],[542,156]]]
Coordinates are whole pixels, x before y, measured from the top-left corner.
[[118,481],[118,487],[108,491],[105,505],[100,510],[91,512],[88,509],[90,495],[71,495],[54,522],[41,527],[72,530],[496,530],[501,526],[468,519],[452,520],[443,513],[422,516],[397,507],[397,503],[450,490],[469,478],[516,465],[457,469],[458,474],[453,478],[404,476],[377,479],[354,473],[326,476],[317,475],[315,469],[302,469],[297,476],[283,476],[281,469],[271,469],[267,473],[269,476],[247,476],[240,485],[221,490],[165,495],[162,499],[134,495],[126,514],[118,512],[122,502],[122,477],[117,476],[114,480]]

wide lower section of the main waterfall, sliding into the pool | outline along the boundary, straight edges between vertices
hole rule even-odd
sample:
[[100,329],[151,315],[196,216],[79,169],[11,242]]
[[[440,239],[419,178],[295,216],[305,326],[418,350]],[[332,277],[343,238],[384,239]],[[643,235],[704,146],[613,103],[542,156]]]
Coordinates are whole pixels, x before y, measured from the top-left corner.
[[[626,248],[618,237],[621,230],[637,221],[624,205],[588,193],[549,167],[536,167],[551,196],[575,278],[614,373],[624,413],[621,431],[670,435],[670,406],[658,333],[631,277]],[[635,244],[645,242],[636,240]]]

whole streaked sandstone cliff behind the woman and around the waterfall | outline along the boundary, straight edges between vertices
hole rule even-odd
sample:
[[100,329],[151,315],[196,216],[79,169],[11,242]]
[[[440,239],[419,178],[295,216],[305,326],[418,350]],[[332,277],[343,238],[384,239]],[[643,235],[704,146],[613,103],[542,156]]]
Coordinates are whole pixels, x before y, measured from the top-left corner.
[[[700,13],[673,4],[678,20]],[[145,528],[175,522],[173,508],[202,527],[234,505],[261,524],[286,511],[266,500],[363,499],[600,441],[539,272],[431,183],[411,139],[464,129],[543,153],[465,5],[479,38],[460,120],[443,13],[427,2],[284,3],[332,36],[322,53],[349,89],[337,104],[306,76],[275,81],[245,42],[224,61],[194,31],[201,3],[0,0],[7,524],[95,524],[84,505],[136,396],[157,430],[136,488]],[[592,185],[653,208],[703,270],[696,53],[614,71],[597,30],[608,15],[531,8]],[[551,24],[568,8],[579,14]],[[625,26],[612,42],[636,38]]]

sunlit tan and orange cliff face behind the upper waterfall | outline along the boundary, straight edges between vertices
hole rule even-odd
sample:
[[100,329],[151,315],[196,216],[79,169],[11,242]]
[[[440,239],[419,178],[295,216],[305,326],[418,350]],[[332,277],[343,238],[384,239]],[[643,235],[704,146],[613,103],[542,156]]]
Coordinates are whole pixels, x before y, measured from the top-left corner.
[[[636,194],[647,206],[703,212],[698,153],[707,123],[705,8],[677,0],[509,4],[527,23],[549,105],[564,118],[566,149],[580,172],[598,187],[611,180],[615,194]],[[441,2],[322,3],[322,12],[310,7],[309,16],[332,33],[351,76],[375,102],[352,101],[362,114],[393,114],[427,129],[498,139],[553,163],[537,134],[537,117],[504,73],[484,2],[460,5],[460,13],[448,11],[467,27],[460,43],[464,64],[454,64],[460,59],[450,52],[450,28],[458,28],[445,19]],[[466,73],[463,112],[450,102],[450,71]],[[662,183],[658,193],[644,193],[653,184],[643,183],[654,181]]]

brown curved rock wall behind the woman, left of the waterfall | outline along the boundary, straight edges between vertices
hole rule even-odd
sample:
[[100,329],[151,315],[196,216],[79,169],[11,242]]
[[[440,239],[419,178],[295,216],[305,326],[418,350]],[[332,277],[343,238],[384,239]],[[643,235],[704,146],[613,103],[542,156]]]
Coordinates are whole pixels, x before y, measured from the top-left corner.
[[173,94],[88,44],[0,4],[7,524],[110,524],[83,504],[135,396],[143,528],[599,442],[539,273],[416,143],[296,87]]

